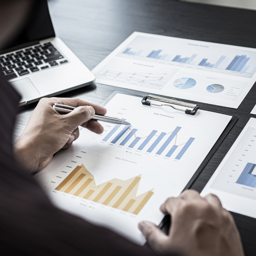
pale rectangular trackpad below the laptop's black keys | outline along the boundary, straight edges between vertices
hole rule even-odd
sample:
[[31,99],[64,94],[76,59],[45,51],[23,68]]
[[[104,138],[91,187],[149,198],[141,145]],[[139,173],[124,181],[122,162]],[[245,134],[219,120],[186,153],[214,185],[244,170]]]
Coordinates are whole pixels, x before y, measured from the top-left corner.
[[29,78],[17,80],[11,82],[11,84],[22,96],[20,101],[26,101],[27,99],[40,95],[39,91],[35,88],[34,84]]

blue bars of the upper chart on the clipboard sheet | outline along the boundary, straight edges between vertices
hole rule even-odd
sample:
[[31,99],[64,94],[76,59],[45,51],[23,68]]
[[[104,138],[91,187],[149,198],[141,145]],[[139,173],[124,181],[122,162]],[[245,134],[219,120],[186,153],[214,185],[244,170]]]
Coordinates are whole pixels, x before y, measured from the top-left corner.
[[[125,121],[124,118],[122,118],[122,120]],[[146,152],[151,153],[155,149],[155,147],[157,147],[157,145],[159,143],[161,143],[162,139],[165,136],[167,136],[167,139],[165,140],[165,142],[162,144],[162,146],[159,148],[159,150],[155,154],[161,155],[167,147],[170,147],[170,150],[165,155],[165,157],[170,157],[176,151],[176,149],[178,147],[182,147],[180,152],[175,157],[175,159],[179,160],[185,154],[185,152],[188,150],[188,148],[191,145],[191,143],[193,142],[193,140],[195,140],[195,138],[191,137],[188,139],[188,141],[182,143],[181,145],[176,145],[175,144],[176,137],[178,135],[178,132],[181,129],[181,127],[179,127],[179,126],[177,126],[174,129],[174,131],[172,131],[172,132],[169,132],[169,133],[161,132],[161,134],[159,136],[156,135],[156,133],[158,131],[153,130],[152,132],[150,132],[150,134],[148,136],[145,136],[143,138],[136,137],[135,133],[138,131],[138,129],[130,129],[129,127],[131,125],[122,125],[122,126],[123,126],[123,129],[121,129],[120,132],[117,132],[118,128],[121,127],[121,124],[115,125],[114,128],[105,136],[105,138],[102,139],[102,141],[106,142],[109,140],[110,143],[115,144],[124,135],[124,138],[118,142],[118,144],[120,146],[126,145],[129,148],[135,148],[135,146],[138,142],[142,142],[136,149],[138,149],[138,150],[145,149]],[[130,130],[130,132],[126,133],[128,131],[128,129]],[[114,134],[116,132],[117,132],[117,134]],[[125,133],[126,133],[126,135],[125,135]],[[132,139],[132,138],[134,138],[134,139]],[[150,142],[153,142],[153,143],[150,143]]]

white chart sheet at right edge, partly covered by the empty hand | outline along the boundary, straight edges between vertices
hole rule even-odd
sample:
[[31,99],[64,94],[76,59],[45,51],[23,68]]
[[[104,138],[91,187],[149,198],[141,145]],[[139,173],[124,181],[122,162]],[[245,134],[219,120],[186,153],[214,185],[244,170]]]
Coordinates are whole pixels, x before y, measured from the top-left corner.
[[256,218],[256,118],[242,130],[201,195],[217,195],[224,208]]

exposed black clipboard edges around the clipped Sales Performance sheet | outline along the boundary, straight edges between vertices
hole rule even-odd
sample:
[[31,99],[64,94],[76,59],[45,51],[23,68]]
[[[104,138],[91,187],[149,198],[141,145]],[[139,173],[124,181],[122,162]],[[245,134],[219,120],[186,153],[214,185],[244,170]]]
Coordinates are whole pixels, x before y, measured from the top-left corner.
[[[123,91],[114,91],[102,104],[101,106],[104,107],[117,93],[120,94],[125,94],[125,95],[131,95],[131,96],[135,96],[138,97],[138,100],[142,101],[147,100],[148,98],[145,98],[145,94],[139,94],[140,92],[138,92],[138,94],[129,94],[129,93],[124,93]],[[158,95],[152,95],[153,97],[155,96],[156,98],[162,98],[161,96]],[[170,101],[174,100],[176,101],[176,99],[173,99],[171,97],[166,97],[167,99],[169,99]],[[163,98],[162,98],[163,99]],[[165,98],[164,98],[165,99]],[[174,104],[174,102],[172,102]],[[176,103],[176,102],[175,102]],[[192,103],[185,103],[182,106],[188,106],[191,108],[196,108],[196,104],[192,104]],[[144,104],[146,105],[146,104]],[[152,104],[153,105],[153,104]],[[191,105],[191,106],[189,106]],[[192,106],[193,105],[193,106]],[[204,109],[204,108],[200,108],[202,110],[206,110],[206,111],[211,111],[209,109]],[[198,110],[198,108],[196,108],[196,111]],[[176,110],[174,110],[176,111]],[[184,111],[185,112],[185,111]],[[211,112],[215,112],[215,113],[219,113],[219,114],[225,114],[225,113],[221,113],[221,112],[217,112],[217,111],[211,111]],[[184,113],[185,114],[185,113]],[[186,113],[187,114],[187,113]],[[227,116],[231,116],[229,114],[225,114]],[[217,151],[217,149],[219,148],[219,146],[221,145],[221,143],[223,142],[223,140],[226,138],[227,134],[230,132],[230,130],[232,129],[232,127],[234,126],[234,124],[236,123],[236,121],[238,120],[237,116],[232,116],[231,120],[229,121],[229,123],[227,124],[226,128],[224,129],[224,131],[222,132],[221,136],[219,136],[219,139],[217,140],[217,142],[214,144],[214,146],[211,148],[211,150],[209,151],[208,155],[206,156],[206,158],[204,159],[204,161],[201,163],[201,165],[198,167],[198,169],[196,170],[196,172],[194,173],[194,175],[192,176],[192,178],[189,180],[188,184],[185,186],[185,188],[183,189],[183,191],[185,191],[186,189],[189,189],[192,187],[193,183],[196,181],[196,178],[199,176],[199,174],[203,171],[204,167],[207,165],[207,163],[210,161],[210,159],[212,158],[212,156],[214,155],[214,153]],[[182,191],[182,192],[183,192]],[[162,220],[162,222],[159,224],[159,228],[162,229],[162,231],[165,234],[169,233],[169,227],[171,224],[171,220],[170,220],[170,216],[165,216]],[[147,244],[145,244],[144,246],[148,246]]]

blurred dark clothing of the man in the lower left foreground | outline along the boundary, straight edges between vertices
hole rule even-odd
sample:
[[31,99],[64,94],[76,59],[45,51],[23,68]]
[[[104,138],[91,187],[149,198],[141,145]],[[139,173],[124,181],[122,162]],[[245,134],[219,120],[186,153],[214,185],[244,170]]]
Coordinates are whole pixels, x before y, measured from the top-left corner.
[[10,84],[0,80],[1,255],[154,255],[108,229],[57,209],[20,169],[12,155],[19,99]]

